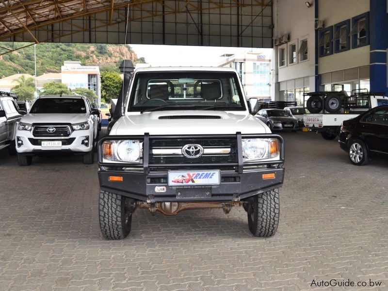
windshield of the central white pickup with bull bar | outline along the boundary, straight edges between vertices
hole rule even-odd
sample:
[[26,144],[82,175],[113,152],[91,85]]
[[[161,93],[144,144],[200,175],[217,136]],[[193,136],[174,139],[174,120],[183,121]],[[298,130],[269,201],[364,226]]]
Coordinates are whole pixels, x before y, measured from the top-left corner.
[[245,110],[233,72],[139,72],[128,111]]

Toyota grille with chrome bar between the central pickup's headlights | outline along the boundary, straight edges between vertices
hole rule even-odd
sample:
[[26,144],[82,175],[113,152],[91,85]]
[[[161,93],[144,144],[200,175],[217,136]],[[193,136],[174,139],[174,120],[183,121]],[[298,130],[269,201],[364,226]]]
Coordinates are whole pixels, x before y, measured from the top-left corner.
[[[187,158],[182,154],[186,145],[200,145],[202,156]],[[167,151],[160,153],[159,151]],[[169,153],[168,153],[169,152]],[[150,164],[194,164],[194,163],[234,163],[238,162],[235,139],[178,139],[150,140]]]

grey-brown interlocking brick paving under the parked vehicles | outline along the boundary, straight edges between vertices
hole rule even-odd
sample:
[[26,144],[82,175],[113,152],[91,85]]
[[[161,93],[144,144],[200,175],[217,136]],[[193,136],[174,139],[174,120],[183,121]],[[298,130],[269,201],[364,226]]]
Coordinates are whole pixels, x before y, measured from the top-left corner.
[[283,136],[280,226],[268,239],[252,237],[234,208],[136,210],[129,237],[105,241],[96,164],[70,156],[19,167],[2,150],[0,291],[311,290],[313,279],[381,280],[347,290],[388,290],[388,161],[356,167],[336,141]]

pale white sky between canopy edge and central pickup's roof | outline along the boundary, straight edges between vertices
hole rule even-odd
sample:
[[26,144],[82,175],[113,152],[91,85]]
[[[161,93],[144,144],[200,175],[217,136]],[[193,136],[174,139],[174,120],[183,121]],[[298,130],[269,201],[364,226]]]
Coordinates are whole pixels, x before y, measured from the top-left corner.
[[137,57],[144,57],[151,66],[217,66],[223,54],[262,52],[270,54],[272,49],[190,47],[161,45],[130,45]]

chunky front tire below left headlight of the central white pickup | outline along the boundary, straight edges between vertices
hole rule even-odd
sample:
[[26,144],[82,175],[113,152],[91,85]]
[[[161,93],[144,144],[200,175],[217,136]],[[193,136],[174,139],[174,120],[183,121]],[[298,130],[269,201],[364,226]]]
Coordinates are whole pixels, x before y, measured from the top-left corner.
[[108,240],[122,240],[129,235],[134,200],[100,190],[99,220],[102,236]]

